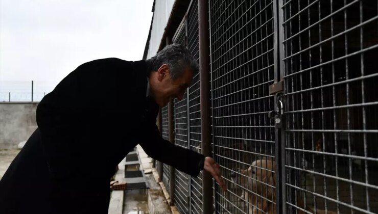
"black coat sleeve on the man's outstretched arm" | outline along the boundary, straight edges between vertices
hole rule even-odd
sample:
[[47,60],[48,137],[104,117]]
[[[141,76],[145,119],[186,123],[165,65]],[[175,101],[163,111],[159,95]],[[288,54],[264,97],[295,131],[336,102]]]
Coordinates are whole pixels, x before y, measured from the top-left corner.
[[197,177],[200,170],[203,169],[204,155],[164,140],[155,124],[149,126],[147,128],[149,131],[139,142],[146,153],[160,162]]

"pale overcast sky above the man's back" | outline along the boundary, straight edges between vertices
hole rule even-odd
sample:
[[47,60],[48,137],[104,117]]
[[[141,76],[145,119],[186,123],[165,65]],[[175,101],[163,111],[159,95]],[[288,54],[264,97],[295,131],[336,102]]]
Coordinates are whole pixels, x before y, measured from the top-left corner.
[[101,58],[140,60],[153,0],[0,0],[0,83],[56,85]]

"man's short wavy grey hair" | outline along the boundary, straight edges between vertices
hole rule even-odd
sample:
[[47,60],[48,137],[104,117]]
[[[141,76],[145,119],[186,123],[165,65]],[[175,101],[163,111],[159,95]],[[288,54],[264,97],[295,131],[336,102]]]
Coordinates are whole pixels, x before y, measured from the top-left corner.
[[161,65],[167,64],[172,79],[182,76],[186,67],[196,74],[199,71],[197,61],[191,52],[181,44],[171,44],[160,50],[154,57],[146,60],[150,71],[157,71]]

